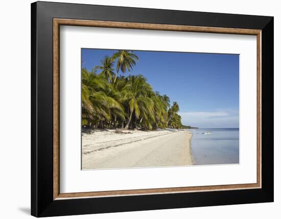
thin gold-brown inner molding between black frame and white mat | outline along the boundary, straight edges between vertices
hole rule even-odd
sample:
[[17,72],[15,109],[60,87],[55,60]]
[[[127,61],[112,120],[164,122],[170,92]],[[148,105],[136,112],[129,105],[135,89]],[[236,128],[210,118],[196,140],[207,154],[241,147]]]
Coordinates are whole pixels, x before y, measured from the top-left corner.
[[[183,32],[201,32],[201,33],[225,33],[225,34],[243,34],[256,35],[257,48],[257,179],[252,184],[233,184],[216,186],[194,186],[194,187],[175,187],[175,188],[155,188],[155,189],[133,189],[116,191],[96,191],[96,192],[76,192],[60,193],[59,188],[59,27],[66,26],[86,26],[103,28],[124,28],[124,29],[143,29],[143,30],[165,30],[165,31],[183,31]],[[196,27],[183,25],[162,25],[162,24],[143,24],[126,23],[116,21],[100,20],[79,20],[79,19],[53,19],[53,199],[73,199],[73,198],[98,198],[101,196],[121,196],[121,195],[139,195],[139,194],[157,194],[157,193],[181,193],[181,192],[200,192],[215,190],[233,190],[233,189],[253,189],[261,188],[261,127],[262,127],[262,86],[261,86],[261,30],[254,29],[234,29],[234,28],[214,28],[214,27]]]

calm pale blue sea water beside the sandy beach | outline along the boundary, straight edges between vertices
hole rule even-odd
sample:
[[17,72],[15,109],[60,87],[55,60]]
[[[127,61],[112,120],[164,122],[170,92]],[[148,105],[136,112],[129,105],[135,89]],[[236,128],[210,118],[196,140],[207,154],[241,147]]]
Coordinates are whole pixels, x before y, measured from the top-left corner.
[[[195,165],[239,164],[239,128],[199,128],[191,148]],[[202,134],[211,132],[212,134]]]

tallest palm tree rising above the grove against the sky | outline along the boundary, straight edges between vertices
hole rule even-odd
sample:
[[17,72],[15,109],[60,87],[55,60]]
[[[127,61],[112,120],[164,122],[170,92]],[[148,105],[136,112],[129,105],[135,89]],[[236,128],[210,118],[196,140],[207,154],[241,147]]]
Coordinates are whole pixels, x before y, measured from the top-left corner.
[[118,52],[113,54],[112,59],[118,59],[116,64],[117,74],[115,75],[113,82],[115,83],[119,70],[121,70],[122,73],[126,73],[126,69],[130,72],[135,65],[135,62],[138,60],[138,57],[133,54],[132,51],[119,50]]

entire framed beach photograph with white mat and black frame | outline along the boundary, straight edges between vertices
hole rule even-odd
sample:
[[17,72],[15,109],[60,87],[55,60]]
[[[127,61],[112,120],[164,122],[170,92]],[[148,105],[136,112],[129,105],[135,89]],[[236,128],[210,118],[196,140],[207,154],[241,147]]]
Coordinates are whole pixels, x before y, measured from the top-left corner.
[[31,214],[273,202],[273,17],[31,4]]

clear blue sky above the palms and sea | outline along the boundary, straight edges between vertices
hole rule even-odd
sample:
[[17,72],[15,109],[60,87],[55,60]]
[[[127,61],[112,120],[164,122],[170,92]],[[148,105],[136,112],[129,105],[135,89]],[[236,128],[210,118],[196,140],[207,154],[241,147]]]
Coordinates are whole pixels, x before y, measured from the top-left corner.
[[[116,50],[82,49],[82,67],[92,70]],[[154,91],[178,102],[182,124],[200,128],[239,127],[239,55],[134,51],[133,70]],[[123,74],[120,72],[120,74]]]

